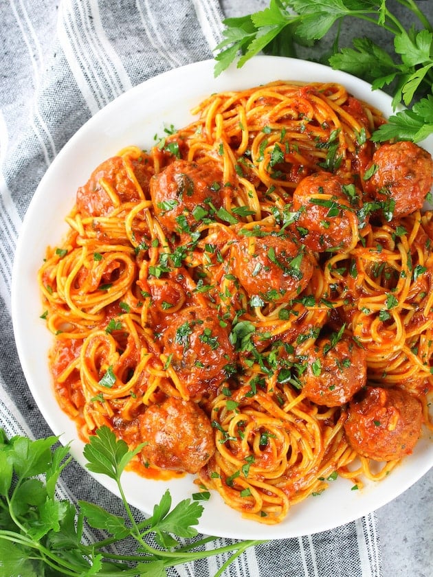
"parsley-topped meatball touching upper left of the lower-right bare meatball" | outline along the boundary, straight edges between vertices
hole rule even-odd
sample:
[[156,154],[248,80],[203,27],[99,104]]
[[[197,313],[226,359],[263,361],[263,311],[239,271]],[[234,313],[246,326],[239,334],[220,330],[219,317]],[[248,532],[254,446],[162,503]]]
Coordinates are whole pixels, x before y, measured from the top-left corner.
[[343,336],[316,341],[307,356],[307,368],[300,375],[302,392],[317,405],[340,407],[353,397],[367,380],[366,352]]

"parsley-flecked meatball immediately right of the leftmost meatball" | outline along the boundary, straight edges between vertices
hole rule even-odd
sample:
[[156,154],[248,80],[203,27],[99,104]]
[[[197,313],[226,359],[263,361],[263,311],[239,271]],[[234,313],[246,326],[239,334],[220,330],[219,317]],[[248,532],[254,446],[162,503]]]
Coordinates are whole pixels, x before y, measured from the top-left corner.
[[223,172],[216,164],[176,160],[151,179],[153,210],[167,234],[188,232],[200,223],[203,211],[221,207]]

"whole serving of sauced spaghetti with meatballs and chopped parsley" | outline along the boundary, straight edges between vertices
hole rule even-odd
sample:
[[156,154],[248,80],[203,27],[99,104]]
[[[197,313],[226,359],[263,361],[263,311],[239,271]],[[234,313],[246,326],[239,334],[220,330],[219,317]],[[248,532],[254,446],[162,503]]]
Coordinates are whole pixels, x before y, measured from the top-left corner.
[[431,427],[432,159],[373,145],[384,118],[339,84],[193,112],[96,168],[47,249],[55,394],[84,440],[143,443],[141,475],[195,473],[278,523],[337,475],[381,479]]

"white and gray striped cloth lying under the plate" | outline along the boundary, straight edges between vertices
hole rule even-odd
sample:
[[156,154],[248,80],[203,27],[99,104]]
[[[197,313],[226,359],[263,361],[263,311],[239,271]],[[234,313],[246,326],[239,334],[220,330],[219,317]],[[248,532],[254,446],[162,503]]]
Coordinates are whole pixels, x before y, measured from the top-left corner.
[[[244,6],[244,13],[251,12],[248,2]],[[217,0],[1,1],[0,426],[8,434],[51,434],[21,371],[10,318],[16,239],[38,182],[67,140],[104,105],[168,69],[211,58],[223,17]],[[118,499],[80,466],[69,466],[63,483],[72,499],[120,513]],[[209,547],[224,543],[218,539]],[[210,558],[169,574],[211,577],[224,560]],[[379,577],[375,515],[260,545],[225,576]]]

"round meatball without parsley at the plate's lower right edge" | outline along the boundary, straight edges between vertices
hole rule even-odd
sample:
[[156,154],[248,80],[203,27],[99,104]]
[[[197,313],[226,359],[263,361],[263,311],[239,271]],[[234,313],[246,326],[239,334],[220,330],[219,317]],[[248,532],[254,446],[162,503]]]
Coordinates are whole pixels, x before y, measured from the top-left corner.
[[392,461],[412,453],[421,434],[420,401],[403,389],[366,387],[348,407],[344,431],[364,457]]

